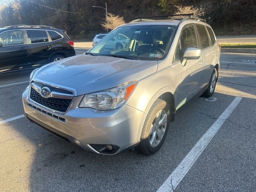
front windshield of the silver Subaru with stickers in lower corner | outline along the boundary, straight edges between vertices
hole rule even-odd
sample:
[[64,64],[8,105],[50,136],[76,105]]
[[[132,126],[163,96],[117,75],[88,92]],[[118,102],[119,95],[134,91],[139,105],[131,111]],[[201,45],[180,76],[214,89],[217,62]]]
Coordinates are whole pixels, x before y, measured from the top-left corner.
[[136,60],[161,60],[172,43],[177,26],[132,25],[110,32],[88,53]]

